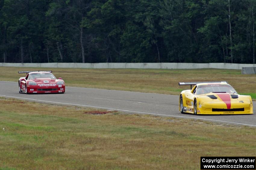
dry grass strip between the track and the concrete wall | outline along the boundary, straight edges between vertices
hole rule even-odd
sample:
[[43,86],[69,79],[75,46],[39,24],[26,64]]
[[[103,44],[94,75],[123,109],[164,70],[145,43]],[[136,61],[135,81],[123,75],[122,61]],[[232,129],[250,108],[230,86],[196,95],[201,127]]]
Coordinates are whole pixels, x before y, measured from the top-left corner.
[[53,70],[67,86],[90,87],[161,94],[180,94],[189,86],[178,82],[228,81],[239,94],[249,94],[256,99],[256,75],[242,75],[241,70],[223,69],[70,69],[0,67],[0,80],[17,82],[21,70]]

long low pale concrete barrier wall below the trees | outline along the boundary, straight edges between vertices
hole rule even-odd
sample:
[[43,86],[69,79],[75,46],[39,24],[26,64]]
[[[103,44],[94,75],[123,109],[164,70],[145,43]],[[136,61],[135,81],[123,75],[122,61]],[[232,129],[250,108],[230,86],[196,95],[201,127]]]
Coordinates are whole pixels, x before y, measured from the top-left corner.
[[6,67],[48,67],[48,68],[134,68],[134,69],[235,69],[256,67],[256,64],[235,63],[0,63]]

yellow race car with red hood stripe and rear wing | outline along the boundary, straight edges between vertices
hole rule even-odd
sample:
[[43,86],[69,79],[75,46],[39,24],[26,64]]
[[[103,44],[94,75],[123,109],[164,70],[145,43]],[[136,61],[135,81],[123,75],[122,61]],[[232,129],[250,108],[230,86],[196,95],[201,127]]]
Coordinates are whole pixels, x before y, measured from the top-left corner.
[[191,88],[180,94],[181,113],[253,114],[251,96],[237,94],[228,82],[179,82],[179,85]]

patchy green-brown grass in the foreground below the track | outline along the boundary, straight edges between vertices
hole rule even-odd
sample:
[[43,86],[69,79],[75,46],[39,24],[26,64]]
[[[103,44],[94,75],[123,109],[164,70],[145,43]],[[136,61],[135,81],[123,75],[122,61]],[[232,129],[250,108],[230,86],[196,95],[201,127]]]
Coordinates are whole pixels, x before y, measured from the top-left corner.
[[[255,128],[0,97],[0,169],[200,169],[255,156]],[[4,129],[3,129],[4,128]]]

